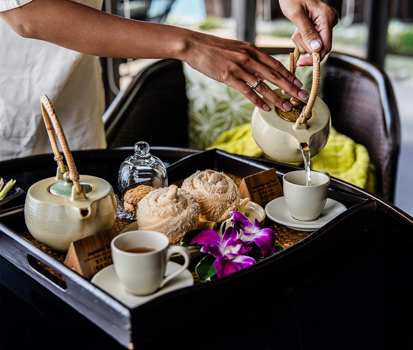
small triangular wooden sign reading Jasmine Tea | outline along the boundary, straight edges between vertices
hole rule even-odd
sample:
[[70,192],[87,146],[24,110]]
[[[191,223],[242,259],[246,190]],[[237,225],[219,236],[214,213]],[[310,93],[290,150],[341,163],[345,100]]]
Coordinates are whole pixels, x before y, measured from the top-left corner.
[[72,242],[64,264],[90,281],[97,272],[112,264],[110,242],[118,234],[112,228]]

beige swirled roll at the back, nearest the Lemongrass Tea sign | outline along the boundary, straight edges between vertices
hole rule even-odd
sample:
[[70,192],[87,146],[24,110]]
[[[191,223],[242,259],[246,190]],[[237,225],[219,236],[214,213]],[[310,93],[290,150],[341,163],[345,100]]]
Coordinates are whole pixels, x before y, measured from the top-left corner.
[[182,188],[197,199],[200,219],[220,223],[240,208],[240,191],[224,173],[197,171],[183,181]]

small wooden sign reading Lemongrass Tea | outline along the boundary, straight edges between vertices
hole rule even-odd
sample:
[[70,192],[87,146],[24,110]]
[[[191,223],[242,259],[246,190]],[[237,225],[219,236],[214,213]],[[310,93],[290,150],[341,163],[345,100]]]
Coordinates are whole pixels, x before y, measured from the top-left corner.
[[244,177],[238,188],[240,198],[248,197],[261,207],[265,207],[268,202],[283,195],[281,183],[274,168]]

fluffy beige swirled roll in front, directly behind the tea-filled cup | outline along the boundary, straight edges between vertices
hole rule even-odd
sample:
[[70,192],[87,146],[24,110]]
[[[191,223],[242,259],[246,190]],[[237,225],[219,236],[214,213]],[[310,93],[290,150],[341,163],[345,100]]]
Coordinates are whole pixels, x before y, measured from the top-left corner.
[[178,242],[197,227],[199,206],[193,195],[171,185],[148,193],[138,205],[136,221],[140,230],[164,233],[169,242]]

